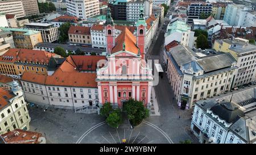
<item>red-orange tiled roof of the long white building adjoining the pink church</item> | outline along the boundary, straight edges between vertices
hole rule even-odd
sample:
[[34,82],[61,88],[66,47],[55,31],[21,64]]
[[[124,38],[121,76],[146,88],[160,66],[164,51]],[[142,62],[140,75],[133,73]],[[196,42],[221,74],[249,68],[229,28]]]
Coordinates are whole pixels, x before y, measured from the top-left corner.
[[[52,76],[24,72],[21,80],[52,86],[97,87],[96,73],[82,73],[79,70],[95,71],[98,60],[102,59],[106,59],[106,57],[69,56]],[[92,68],[88,68],[88,65],[91,65]]]

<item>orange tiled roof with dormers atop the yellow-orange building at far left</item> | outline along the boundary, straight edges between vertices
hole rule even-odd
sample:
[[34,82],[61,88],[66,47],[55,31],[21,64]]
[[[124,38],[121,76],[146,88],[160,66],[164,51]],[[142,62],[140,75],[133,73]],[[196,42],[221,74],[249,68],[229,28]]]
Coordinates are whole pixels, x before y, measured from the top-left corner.
[[11,48],[5,54],[0,56],[0,62],[14,63],[15,61],[27,61],[48,63],[51,56],[55,56],[55,54],[33,49]]

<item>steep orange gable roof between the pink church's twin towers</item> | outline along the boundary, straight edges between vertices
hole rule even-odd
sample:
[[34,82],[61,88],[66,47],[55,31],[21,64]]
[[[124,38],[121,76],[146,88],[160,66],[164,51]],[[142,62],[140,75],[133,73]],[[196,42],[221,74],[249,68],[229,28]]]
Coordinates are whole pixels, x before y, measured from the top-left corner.
[[136,45],[136,37],[125,28],[121,34],[115,39],[115,47],[112,49],[112,53],[119,52],[123,50],[123,43],[125,43],[125,51],[138,54],[138,47]]

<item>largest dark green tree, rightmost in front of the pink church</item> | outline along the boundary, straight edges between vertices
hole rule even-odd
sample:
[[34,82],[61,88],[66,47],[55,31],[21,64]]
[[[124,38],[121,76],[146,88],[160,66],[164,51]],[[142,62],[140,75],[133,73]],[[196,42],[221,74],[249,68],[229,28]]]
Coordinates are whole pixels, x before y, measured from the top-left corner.
[[127,117],[133,126],[140,124],[144,118],[149,116],[148,109],[138,100],[130,99],[125,105],[125,110],[127,111]]

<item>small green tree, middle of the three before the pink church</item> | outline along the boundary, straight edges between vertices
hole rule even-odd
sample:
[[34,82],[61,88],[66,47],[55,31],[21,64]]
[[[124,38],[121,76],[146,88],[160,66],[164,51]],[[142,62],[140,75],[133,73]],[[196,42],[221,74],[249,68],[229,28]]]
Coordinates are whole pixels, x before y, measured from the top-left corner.
[[118,126],[122,123],[121,111],[117,109],[110,113],[106,119],[106,123],[108,123],[110,127],[118,128]]

